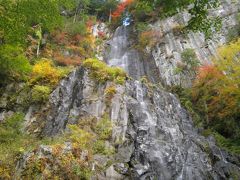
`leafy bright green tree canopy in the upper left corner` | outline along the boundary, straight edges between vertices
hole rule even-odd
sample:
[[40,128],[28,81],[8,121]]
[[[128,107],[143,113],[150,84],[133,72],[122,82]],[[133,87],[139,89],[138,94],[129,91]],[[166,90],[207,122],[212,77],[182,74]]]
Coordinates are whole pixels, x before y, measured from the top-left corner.
[[61,25],[60,6],[69,7],[62,0],[0,0],[0,30],[3,43],[26,44],[30,28],[41,25],[43,32]]

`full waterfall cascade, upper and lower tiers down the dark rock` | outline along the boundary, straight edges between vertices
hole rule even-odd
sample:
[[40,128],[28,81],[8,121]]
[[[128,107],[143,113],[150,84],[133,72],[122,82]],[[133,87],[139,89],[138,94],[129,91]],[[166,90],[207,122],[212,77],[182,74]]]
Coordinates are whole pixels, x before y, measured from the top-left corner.
[[[139,53],[131,50],[128,33],[128,27],[116,30],[107,63],[123,68],[134,79],[126,85],[131,123],[127,134],[134,143],[129,162],[131,178],[219,179],[221,173],[203,149],[210,143],[194,129],[177,98],[158,88],[149,94],[149,88],[139,82],[142,76],[152,77]],[[222,152],[214,153],[219,156],[219,164],[227,166]],[[232,168],[239,170],[234,165]]]

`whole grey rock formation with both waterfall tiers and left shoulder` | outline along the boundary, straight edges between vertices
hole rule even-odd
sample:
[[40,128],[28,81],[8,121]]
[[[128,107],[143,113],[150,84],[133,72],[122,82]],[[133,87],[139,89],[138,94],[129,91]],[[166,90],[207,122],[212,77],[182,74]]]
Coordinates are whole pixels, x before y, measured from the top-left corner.
[[[240,177],[239,159],[218,148],[213,138],[201,136],[179,100],[151,83],[160,82],[157,64],[147,64],[129,48],[128,32],[126,27],[117,29],[107,58],[109,65],[128,73],[124,85],[99,84],[80,68],[61,81],[44,109],[31,113],[29,124],[42,123],[35,126],[38,131],[53,136],[67,124],[89,116],[100,119],[107,113],[114,124],[112,143],[117,153],[106,173],[97,175],[100,179]],[[151,74],[153,69],[155,74]],[[110,86],[115,86],[116,93],[109,99],[106,89]],[[22,168],[20,163],[18,169]]]

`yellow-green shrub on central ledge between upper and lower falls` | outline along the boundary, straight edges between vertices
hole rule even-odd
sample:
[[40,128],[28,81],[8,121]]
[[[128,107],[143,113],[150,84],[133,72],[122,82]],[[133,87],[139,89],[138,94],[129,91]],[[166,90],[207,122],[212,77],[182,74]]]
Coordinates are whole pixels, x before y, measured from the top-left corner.
[[98,59],[87,59],[83,62],[83,67],[90,70],[91,77],[100,82],[114,81],[123,84],[126,79],[126,73],[118,67],[109,67],[103,61]]

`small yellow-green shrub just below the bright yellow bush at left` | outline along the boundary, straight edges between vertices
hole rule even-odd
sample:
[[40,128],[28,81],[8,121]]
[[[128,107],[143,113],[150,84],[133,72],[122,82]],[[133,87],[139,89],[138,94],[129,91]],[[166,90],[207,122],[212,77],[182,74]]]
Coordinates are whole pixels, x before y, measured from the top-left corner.
[[48,100],[50,93],[50,87],[35,85],[32,89],[32,101],[35,103],[45,102]]

